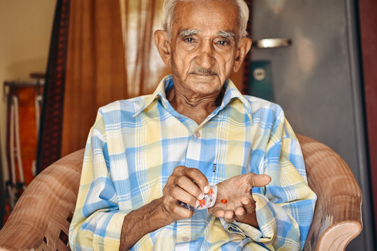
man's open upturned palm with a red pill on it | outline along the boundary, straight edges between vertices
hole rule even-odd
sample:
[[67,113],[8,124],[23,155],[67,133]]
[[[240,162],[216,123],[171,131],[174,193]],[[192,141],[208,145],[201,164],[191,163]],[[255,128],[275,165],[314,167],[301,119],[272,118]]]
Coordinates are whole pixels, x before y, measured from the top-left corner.
[[[251,188],[265,186],[270,181],[271,177],[266,174],[253,173],[229,178],[217,184],[216,203],[208,211],[227,222],[237,220],[258,227]],[[222,199],[226,199],[226,203],[222,203]]]

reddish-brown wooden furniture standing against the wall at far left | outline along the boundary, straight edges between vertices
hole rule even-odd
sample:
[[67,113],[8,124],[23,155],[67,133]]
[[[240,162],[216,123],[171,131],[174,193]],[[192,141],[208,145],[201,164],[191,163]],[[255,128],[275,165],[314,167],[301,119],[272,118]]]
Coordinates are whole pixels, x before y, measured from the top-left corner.
[[6,81],[8,173],[13,185],[29,185],[35,174],[36,148],[43,99],[43,75],[32,73],[25,81]]

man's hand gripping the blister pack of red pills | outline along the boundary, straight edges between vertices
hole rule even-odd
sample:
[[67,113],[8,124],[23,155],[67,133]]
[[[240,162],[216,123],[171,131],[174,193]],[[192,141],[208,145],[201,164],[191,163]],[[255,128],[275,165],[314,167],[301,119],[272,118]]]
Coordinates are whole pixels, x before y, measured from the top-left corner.
[[204,174],[195,168],[175,167],[163,188],[161,207],[168,222],[191,218],[193,211],[179,206],[182,201],[191,206],[198,206],[200,199],[209,191],[209,183]]

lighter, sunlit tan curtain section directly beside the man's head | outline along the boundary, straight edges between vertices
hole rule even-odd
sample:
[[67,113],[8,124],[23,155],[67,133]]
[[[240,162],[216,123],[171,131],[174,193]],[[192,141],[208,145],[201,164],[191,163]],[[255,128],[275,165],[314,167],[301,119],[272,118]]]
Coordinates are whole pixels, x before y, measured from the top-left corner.
[[161,29],[163,0],[120,0],[120,3],[128,93],[149,94],[170,74],[153,43],[154,31]]

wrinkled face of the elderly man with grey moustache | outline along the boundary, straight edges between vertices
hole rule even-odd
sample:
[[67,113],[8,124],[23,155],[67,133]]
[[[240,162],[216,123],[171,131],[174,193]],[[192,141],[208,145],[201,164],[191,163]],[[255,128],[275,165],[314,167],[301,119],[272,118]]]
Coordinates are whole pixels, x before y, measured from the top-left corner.
[[198,96],[219,93],[237,57],[237,12],[222,1],[181,2],[170,42],[175,85]]

